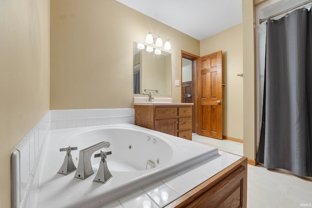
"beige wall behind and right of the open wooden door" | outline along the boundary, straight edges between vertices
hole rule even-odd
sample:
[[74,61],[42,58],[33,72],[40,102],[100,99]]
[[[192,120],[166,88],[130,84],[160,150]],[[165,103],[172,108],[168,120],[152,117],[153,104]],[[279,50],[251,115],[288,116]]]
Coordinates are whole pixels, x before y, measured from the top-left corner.
[[200,41],[200,56],[222,50],[223,135],[243,139],[242,24]]

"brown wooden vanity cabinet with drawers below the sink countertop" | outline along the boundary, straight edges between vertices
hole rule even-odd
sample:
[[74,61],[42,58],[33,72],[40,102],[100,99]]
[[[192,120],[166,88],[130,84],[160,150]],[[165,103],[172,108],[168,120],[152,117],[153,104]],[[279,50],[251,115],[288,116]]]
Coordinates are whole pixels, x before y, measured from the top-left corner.
[[192,140],[192,105],[135,105],[135,125]]

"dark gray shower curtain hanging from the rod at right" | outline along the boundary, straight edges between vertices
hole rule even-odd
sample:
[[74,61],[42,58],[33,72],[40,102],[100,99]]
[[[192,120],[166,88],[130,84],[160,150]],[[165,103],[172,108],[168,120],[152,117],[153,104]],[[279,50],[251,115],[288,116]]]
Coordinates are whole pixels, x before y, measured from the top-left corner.
[[312,176],[311,52],[311,10],[268,20],[257,161],[303,176]]

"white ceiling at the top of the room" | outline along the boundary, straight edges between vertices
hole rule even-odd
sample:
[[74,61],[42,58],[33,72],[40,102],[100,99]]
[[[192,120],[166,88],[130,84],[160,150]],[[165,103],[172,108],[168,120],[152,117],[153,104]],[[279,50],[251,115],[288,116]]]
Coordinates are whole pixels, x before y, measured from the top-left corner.
[[242,22],[242,0],[117,1],[198,40]]

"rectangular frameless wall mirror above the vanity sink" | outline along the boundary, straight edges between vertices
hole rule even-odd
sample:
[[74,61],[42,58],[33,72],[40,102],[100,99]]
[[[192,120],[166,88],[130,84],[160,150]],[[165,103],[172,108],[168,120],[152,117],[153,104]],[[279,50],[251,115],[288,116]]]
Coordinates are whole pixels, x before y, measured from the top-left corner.
[[147,46],[138,49],[138,43],[133,44],[133,79],[134,94],[149,94],[171,96],[172,72],[171,72],[171,54],[166,51],[160,51],[161,54],[155,54],[155,48],[152,52],[146,51]]

